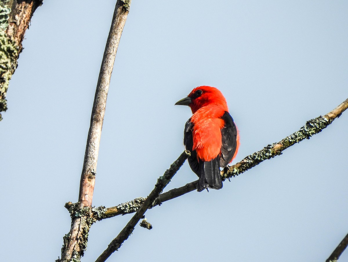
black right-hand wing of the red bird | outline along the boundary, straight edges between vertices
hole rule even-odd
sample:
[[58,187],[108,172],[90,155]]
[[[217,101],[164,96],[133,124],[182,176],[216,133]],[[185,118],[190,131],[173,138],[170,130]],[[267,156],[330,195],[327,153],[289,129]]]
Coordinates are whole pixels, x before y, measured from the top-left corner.
[[225,121],[225,126],[221,129],[220,167],[225,167],[232,160],[237,149],[237,127],[229,112],[225,111],[221,118]]

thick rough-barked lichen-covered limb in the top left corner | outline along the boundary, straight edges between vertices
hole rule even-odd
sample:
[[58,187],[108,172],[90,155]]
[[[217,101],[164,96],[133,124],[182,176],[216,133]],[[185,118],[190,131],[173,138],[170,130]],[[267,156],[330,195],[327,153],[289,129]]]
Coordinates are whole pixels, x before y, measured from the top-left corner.
[[6,92],[23,49],[24,33],[34,11],[41,4],[42,0],[0,2],[0,112],[7,110]]

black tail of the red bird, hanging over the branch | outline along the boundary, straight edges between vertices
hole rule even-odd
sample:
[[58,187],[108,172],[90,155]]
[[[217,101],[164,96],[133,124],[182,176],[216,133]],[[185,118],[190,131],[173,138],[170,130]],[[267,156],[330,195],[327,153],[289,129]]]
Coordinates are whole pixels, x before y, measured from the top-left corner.
[[207,187],[213,189],[222,188],[222,179],[220,175],[220,156],[206,162],[199,162],[198,167],[198,185],[197,190],[203,191]]

